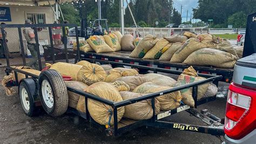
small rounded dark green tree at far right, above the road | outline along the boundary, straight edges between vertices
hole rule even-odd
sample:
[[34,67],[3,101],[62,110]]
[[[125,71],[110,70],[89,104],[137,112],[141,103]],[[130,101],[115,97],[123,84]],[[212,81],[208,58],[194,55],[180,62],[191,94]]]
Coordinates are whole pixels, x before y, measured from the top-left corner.
[[246,28],[247,16],[244,12],[239,11],[228,17],[227,23],[233,25],[233,28]]

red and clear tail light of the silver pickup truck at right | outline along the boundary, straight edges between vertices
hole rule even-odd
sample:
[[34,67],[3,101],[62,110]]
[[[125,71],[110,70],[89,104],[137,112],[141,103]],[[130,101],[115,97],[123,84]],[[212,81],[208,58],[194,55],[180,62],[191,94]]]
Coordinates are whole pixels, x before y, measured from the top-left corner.
[[228,137],[240,139],[255,129],[255,97],[255,91],[231,83],[227,96],[224,127]]

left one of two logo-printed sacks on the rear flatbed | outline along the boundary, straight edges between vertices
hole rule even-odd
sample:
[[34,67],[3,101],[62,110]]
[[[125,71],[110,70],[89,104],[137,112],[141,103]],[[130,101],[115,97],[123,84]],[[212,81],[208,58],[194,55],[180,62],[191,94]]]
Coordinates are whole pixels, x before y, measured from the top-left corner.
[[113,52],[113,49],[111,49],[111,47],[109,47],[109,45],[107,45],[99,36],[91,36],[87,39],[87,42],[96,53]]

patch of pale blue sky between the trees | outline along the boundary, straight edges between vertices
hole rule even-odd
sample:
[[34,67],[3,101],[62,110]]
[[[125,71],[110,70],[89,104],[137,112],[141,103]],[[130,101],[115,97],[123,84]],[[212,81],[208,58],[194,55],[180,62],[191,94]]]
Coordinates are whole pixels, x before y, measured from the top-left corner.
[[[198,5],[198,0],[173,0],[173,7],[176,8],[180,12],[180,8],[182,5],[182,22],[186,22],[190,20],[191,13],[193,15],[192,8],[196,8]],[[188,14],[187,14],[188,11]],[[193,16],[192,16],[193,17]],[[195,22],[196,20],[194,20]],[[199,19],[197,20],[200,21]]]

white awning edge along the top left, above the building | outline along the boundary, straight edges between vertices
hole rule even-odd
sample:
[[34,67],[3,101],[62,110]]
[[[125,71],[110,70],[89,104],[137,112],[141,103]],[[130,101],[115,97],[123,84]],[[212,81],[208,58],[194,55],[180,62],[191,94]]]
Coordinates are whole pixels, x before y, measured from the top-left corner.
[[[57,0],[59,4],[77,0]],[[55,4],[56,0],[49,0],[50,4]],[[0,4],[6,5],[49,5],[48,0],[0,0]]]

